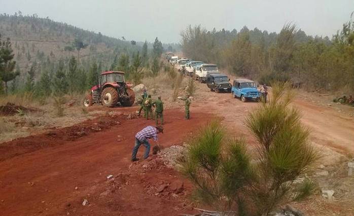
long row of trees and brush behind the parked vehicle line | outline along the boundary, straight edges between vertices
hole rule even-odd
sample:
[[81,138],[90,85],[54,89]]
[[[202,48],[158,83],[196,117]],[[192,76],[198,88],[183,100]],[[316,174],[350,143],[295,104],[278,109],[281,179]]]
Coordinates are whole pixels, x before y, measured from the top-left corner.
[[[292,23],[279,33],[188,26],[182,33],[186,56],[217,63],[231,74],[270,84],[290,81],[308,91],[354,90],[354,17],[332,39],[312,37]],[[339,28],[340,26],[338,26]]]

